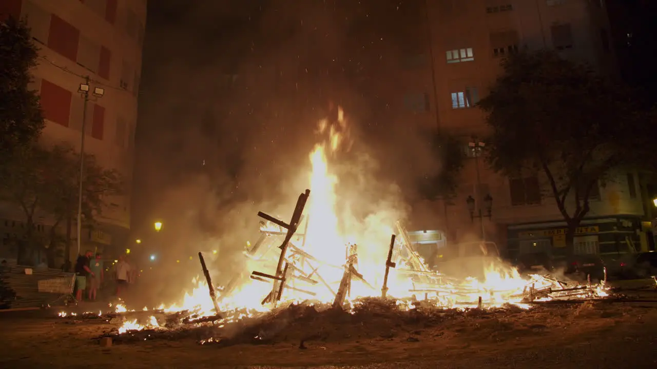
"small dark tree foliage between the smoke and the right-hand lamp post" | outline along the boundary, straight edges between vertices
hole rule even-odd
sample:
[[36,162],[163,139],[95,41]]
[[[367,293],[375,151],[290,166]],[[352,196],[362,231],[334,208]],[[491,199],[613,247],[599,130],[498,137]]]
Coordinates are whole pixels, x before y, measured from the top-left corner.
[[448,200],[456,195],[459,172],[463,168],[463,142],[446,133],[432,133],[430,137],[432,151],[440,162],[440,170],[420,179],[420,194],[427,200]]

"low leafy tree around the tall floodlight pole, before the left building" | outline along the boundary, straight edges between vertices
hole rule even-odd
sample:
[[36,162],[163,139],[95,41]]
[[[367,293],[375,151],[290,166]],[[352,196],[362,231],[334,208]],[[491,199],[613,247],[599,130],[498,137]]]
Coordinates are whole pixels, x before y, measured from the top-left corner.
[[[79,154],[68,144],[51,148],[35,144],[16,155],[8,169],[7,177],[0,183],[1,192],[4,200],[22,209],[26,225],[24,243],[18,245],[18,257],[24,259],[25,251],[43,247],[52,266],[57,229],[62,221],[76,217],[78,211]],[[83,222],[85,227],[93,227],[106,205],[104,197],[119,194],[122,182],[114,169],[102,168],[93,155],[85,155],[83,173]],[[47,237],[35,232],[37,213],[49,216],[53,222]],[[68,244],[64,254],[68,258]]]

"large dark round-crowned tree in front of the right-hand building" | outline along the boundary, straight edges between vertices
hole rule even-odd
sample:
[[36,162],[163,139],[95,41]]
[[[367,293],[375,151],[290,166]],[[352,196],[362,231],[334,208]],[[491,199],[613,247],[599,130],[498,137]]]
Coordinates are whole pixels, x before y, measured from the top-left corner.
[[570,254],[594,186],[635,163],[643,148],[633,141],[647,125],[627,89],[556,52],[523,51],[502,67],[479,102],[492,132],[487,160],[504,175],[547,179]]

